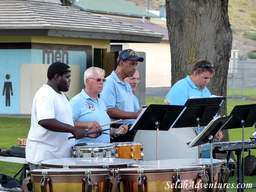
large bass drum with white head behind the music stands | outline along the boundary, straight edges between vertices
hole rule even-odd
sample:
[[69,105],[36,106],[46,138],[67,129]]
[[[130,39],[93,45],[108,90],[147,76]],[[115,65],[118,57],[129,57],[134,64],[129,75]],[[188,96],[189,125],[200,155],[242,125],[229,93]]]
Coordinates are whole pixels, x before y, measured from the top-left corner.
[[[156,131],[136,130],[133,142],[143,143],[144,161],[156,160]],[[196,138],[196,131],[192,127],[172,128],[169,131],[159,131],[158,139],[158,159],[179,159],[179,158],[198,158],[198,147],[188,148],[188,144]],[[209,144],[206,144],[207,146]],[[206,146],[203,145],[203,146]],[[208,148],[208,149],[207,149]],[[204,153],[210,158],[210,147],[204,148]]]

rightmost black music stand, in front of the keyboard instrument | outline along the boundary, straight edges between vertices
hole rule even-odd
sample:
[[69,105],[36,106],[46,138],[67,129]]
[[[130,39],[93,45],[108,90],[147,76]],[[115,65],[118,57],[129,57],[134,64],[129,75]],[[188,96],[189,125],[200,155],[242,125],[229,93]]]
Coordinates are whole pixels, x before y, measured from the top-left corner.
[[[237,152],[237,184],[244,183],[244,127],[252,127],[256,120],[256,104],[237,105],[233,108],[230,115],[233,116],[222,129],[242,128],[242,160],[240,163],[241,152]],[[241,171],[240,171],[241,170]],[[241,189],[240,187],[237,188]],[[241,191],[244,191],[242,188]]]

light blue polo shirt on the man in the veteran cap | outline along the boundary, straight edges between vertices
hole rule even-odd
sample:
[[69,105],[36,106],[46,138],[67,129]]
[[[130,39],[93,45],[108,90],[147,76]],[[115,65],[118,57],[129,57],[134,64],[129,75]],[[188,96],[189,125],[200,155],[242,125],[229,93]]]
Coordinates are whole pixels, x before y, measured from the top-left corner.
[[[138,110],[134,110],[131,85],[127,82],[125,82],[125,84],[121,82],[115,71],[106,79],[107,81],[104,83],[103,90],[100,93],[100,99],[104,101],[106,108],[117,108],[126,112],[137,112]],[[111,118],[111,121],[116,120],[118,119]],[[135,119],[124,119],[118,122],[118,124],[133,124],[134,121]]]

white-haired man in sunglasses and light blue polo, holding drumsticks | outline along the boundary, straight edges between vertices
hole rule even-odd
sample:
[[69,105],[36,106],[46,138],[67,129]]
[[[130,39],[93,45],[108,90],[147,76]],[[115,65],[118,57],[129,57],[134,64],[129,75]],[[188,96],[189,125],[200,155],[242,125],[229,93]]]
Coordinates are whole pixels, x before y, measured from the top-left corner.
[[[109,125],[101,128],[101,125],[110,123],[107,114],[107,108],[104,102],[98,97],[103,89],[105,71],[101,68],[91,67],[84,72],[83,89],[79,94],[73,97],[69,103],[73,110],[73,120],[77,127],[82,129],[109,129]],[[119,134],[127,133],[128,126],[125,124],[118,127],[117,132],[124,128]],[[110,142],[110,136],[113,137],[114,130],[104,131],[107,134],[101,134],[98,138],[86,138],[76,140],[77,143],[95,143]],[[109,136],[110,135],[110,136]]]

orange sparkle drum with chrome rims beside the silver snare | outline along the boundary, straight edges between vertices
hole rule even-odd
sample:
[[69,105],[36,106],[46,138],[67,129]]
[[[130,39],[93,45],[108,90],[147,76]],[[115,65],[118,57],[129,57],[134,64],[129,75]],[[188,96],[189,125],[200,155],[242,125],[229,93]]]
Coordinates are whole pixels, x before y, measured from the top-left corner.
[[134,159],[143,161],[142,142],[120,142],[113,143],[115,148],[115,157],[123,159]]

